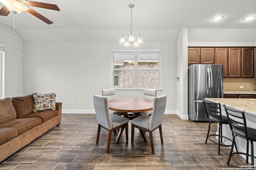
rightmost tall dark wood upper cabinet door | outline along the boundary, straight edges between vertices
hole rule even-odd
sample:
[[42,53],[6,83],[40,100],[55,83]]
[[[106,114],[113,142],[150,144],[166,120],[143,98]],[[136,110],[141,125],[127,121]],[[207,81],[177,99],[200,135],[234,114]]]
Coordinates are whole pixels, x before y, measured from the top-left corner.
[[254,78],[254,48],[242,49],[242,78]]

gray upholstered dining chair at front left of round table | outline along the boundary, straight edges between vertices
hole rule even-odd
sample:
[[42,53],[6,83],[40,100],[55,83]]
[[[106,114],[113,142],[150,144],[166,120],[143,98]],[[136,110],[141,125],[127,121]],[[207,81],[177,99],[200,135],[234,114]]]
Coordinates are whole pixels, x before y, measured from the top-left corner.
[[108,131],[108,145],[107,145],[107,152],[109,152],[110,148],[110,141],[112,131],[121,128],[118,136],[116,137],[116,143],[120,141],[122,133],[125,128],[125,135],[126,135],[126,142],[128,142],[128,122],[129,119],[122,117],[120,115],[110,115],[108,112],[108,98],[104,96],[98,96],[96,94],[93,95],[93,104],[96,113],[96,119],[98,122],[98,132],[96,138],[96,144],[99,142],[100,137],[100,129],[103,127]]

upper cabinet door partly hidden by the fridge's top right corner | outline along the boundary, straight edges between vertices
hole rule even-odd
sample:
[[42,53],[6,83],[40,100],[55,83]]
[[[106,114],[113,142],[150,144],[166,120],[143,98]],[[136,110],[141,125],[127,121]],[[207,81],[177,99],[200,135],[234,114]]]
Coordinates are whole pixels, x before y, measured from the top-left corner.
[[215,64],[223,64],[223,77],[228,78],[228,48],[215,48]]

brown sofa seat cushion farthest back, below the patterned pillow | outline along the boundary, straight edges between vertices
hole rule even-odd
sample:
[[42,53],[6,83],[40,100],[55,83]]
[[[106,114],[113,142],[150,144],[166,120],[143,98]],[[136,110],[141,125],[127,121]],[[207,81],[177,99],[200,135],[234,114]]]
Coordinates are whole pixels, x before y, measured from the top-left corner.
[[23,116],[22,118],[39,117],[42,119],[42,123],[44,123],[45,121],[48,121],[55,116],[58,116],[58,113],[59,113],[58,110],[48,110],[48,111],[43,111],[39,113],[31,113]]

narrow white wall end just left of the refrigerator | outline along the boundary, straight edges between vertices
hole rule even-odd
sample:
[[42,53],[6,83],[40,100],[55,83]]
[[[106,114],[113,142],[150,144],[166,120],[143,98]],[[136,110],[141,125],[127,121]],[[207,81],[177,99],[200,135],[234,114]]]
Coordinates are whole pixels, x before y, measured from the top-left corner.
[[177,41],[177,114],[188,119],[188,28],[180,29]]

